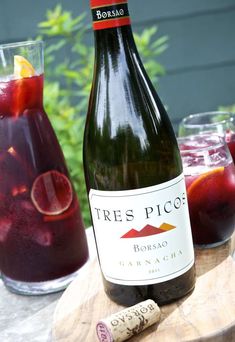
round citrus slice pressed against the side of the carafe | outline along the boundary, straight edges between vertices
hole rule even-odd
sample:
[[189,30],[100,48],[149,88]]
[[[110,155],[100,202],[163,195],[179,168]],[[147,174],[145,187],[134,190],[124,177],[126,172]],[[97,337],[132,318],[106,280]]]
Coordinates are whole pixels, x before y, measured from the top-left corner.
[[44,215],[58,215],[66,211],[73,199],[69,179],[52,170],[39,175],[32,186],[31,199],[36,209]]

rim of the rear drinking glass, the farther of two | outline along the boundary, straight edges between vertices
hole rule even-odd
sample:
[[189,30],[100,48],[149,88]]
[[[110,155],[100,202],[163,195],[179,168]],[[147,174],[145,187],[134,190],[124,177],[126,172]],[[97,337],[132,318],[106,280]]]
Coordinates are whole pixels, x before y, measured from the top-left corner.
[[[208,122],[208,123],[201,123],[201,124],[197,124],[197,123],[187,123],[188,120],[199,117],[199,116],[216,116],[216,115],[228,115],[229,118],[228,119],[223,119],[217,122]],[[182,125],[184,127],[188,127],[188,128],[198,128],[198,127],[213,127],[216,126],[218,124],[226,124],[228,121],[230,121],[232,118],[235,119],[235,113],[233,112],[229,112],[229,111],[209,111],[209,112],[198,112],[198,113],[194,113],[194,114],[189,114],[188,116],[186,116],[185,118],[182,119]]]

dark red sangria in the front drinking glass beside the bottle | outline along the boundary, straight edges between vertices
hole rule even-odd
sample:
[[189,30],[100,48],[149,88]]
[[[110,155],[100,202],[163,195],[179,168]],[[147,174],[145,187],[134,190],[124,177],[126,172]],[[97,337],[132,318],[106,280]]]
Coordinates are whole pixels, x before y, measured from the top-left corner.
[[[185,176],[194,244],[217,244],[235,227],[235,169],[230,164],[197,176]],[[200,179],[199,179],[200,178]]]

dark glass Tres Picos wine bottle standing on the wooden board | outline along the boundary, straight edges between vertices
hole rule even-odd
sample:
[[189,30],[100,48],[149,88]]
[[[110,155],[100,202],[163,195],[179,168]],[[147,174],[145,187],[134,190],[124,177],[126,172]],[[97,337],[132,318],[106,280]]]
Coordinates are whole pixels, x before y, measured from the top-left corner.
[[182,163],[173,128],[140,60],[127,0],[91,0],[94,77],[84,172],[106,294],[159,304],[195,284]]

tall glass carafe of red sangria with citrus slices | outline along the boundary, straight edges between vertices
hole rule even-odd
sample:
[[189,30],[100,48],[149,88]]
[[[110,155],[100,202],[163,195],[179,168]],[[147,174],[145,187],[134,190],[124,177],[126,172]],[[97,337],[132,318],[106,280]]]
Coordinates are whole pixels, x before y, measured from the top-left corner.
[[0,269],[21,294],[65,288],[88,258],[79,202],[43,108],[43,43],[0,45]]

